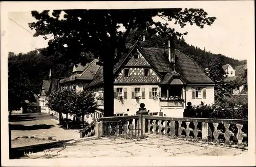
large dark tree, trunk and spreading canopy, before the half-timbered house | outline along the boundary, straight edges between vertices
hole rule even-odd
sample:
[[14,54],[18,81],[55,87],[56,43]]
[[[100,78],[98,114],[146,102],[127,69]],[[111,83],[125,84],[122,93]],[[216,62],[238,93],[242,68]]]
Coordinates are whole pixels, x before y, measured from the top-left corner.
[[[60,18],[64,12],[64,19]],[[208,17],[203,9],[133,9],[133,10],[54,10],[32,11],[37,20],[29,23],[35,30],[34,36],[53,35],[49,40],[47,54],[52,55],[57,50],[65,60],[85,65],[88,60],[82,52],[91,52],[103,65],[104,79],[104,116],[113,116],[113,68],[122,52],[125,51],[125,41],[131,30],[154,30],[168,36],[182,35],[175,29],[155,22],[153,17],[159,16],[167,20],[175,20],[175,24],[184,27],[186,24],[211,25],[215,17]],[[97,16],[97,18],[95,18]],[[125,33],[118,30],[120,24]],[[153,28],[154,27],[154,28]],[[115,54],[117,52],[117,55]]]

